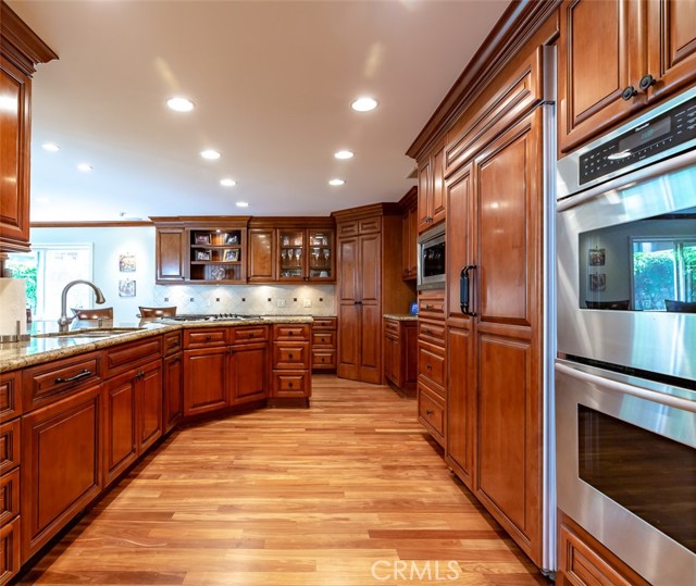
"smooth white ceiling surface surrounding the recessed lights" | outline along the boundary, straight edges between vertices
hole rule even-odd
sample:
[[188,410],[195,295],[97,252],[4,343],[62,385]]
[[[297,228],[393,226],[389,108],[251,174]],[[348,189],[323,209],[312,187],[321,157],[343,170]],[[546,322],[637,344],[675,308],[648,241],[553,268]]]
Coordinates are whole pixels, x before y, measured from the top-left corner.
[[[508,0],[8,3],[60,55],[34,79],[32,220],[114,221],[399,200],[406,150]],[[350,110],[365,93],[380,108]]]

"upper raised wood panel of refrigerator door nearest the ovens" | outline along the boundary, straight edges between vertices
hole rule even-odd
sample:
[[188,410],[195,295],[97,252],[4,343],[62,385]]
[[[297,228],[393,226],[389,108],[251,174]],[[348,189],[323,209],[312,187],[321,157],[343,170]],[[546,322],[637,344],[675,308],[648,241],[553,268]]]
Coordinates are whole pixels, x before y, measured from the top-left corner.
[[531,325],[538,276],[542,192],[540,112],[531,114],[477,160],[480,262],[475,271],[481,322]]

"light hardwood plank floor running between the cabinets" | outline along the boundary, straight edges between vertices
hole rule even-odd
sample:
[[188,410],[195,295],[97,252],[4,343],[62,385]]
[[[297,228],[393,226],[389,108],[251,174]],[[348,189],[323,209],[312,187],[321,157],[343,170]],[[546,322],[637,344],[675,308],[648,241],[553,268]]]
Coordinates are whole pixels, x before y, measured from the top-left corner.
[[174,432],[18,584],[537,586],[388,387]]

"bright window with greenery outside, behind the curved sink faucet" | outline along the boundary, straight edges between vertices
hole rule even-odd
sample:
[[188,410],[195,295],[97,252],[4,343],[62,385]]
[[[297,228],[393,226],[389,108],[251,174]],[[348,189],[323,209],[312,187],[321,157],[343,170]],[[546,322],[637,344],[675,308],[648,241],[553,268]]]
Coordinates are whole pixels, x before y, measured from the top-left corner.
[[[14,278],[26,282],[27,307],[35,320],[57,320],[61,314],[61,291],[71,280],[91,279],[91,245],[45,245],[32,252],[13,253],[5,263]],[[74,287],[69,307],[92,307],[88,287]]]

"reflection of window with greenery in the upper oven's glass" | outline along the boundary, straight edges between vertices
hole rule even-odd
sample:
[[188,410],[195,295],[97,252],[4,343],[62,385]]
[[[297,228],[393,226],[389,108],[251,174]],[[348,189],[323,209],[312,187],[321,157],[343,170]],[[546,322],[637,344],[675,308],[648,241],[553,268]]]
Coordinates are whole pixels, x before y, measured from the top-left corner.
[[633,241],[636,310],[662,310],[664,301],[696,301],[696,240]]

